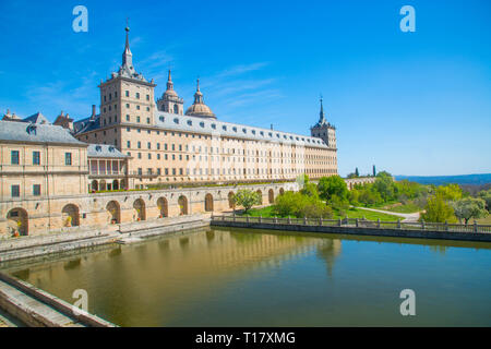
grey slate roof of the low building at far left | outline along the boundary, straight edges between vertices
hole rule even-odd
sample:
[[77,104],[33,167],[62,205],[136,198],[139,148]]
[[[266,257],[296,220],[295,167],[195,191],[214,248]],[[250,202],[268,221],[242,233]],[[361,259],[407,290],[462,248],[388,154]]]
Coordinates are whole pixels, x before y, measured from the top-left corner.
[[75,140],[67,129],[50,123],[0,121],[0,141],[86,146],[86,143]]

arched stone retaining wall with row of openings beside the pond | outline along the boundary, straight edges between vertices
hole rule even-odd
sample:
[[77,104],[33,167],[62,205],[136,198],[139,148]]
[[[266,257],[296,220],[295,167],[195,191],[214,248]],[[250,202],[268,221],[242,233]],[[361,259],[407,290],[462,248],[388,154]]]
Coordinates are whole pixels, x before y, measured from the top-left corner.
[[112,225],[219,213],[233,206],[230,195],[241,189],[260,191],[263,204],[272,204],[282,192],[298,190],[295,182],[236,186],[125,191],[99,194],[0,202],[0,239],[15,229],[25,236],[76,232]]

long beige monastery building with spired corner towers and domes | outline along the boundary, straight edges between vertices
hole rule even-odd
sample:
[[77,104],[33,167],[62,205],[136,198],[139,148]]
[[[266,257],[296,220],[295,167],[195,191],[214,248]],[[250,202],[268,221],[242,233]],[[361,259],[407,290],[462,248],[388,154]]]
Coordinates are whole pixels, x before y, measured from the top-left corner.
[[75,122],[74,135],[81,142],[113,145],[131,156],[128,171],[136,189],[337,174],[331,125],[324,137],[322,132],[306,136],[220,122],[204,104],[199,85],[193,105],[182,115],[183,100],[173,89],[170,72],[167,91],[155,104],[156,85],[134,71],[128,32],[120,70],[99,85],[100,115],[93,112]]

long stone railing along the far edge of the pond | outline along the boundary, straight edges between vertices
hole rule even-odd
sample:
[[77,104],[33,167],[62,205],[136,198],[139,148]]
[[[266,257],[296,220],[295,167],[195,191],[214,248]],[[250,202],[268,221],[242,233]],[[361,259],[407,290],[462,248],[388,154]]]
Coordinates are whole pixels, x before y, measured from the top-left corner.
[[448,222],[426,222],[411,221],[381,221],[359,218],[343,219],[321,219],[321,218],[278,218],[278,217],[249,217],[249,216],[212,216],[212,221],[238,221],[249,224],[274,224],[274,225],[300,225],[300,226],[325,226],[325,227],[350,227],[350,228],[372,228],[372,229],[399,229],[418,231],[442,231],[442,232],[479,232],[491,233],[490,225],[478,225],[476,221],[470,225],[448,224]]

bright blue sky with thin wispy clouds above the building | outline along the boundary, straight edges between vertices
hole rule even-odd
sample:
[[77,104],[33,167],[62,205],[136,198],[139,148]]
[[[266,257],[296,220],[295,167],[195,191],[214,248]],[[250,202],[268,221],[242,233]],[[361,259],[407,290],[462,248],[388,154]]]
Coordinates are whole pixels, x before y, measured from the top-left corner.
[[[88,10],[74,33],[72,10]],[[403,33],[399,10],[416,10]],[[491,172],[491,1],[0,1],[0,111],[99,105],[130,17],[137,71],[220,120],[309,134],[324,97],[339,173]]]

